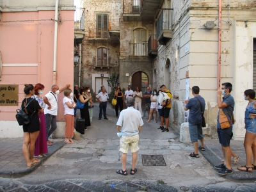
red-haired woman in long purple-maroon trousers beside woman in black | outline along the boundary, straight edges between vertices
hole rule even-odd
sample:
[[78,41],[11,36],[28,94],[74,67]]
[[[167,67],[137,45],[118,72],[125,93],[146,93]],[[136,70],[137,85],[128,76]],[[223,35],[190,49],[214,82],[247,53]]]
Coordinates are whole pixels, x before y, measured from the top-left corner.
[[[44,99],[40,96],[44,91],[44,84],[35,85],[35,94],[32,96],[33,99],[37,100],[38,104],[42,109],[45,108]],[[36,140],[35,145],[35,156],[43,157],[43,154],[48,153],[47,145],[52,145],[52,143],[47,143],[46,138],[46,125],[45,125],[45,116],[44,113],[38,114],[40,118],[40,132]]]

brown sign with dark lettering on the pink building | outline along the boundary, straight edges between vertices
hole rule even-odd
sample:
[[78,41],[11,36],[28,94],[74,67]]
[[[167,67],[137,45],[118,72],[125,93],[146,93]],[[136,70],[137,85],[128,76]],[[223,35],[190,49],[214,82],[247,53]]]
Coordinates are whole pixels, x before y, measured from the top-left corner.
[[0,106],[19,105],[19,85],[0,84]]

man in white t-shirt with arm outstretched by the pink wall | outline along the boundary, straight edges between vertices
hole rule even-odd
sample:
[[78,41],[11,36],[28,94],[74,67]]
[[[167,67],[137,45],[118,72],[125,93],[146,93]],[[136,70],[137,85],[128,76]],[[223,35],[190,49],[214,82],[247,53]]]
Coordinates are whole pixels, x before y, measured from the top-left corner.
[[47,93],[43,99],[45,102],[45,123],[46,123],[46,139],[47,145],[52,145],[52,141],[49,141],[49,136],[57,128],[56,116],[58,113],[58,94],[63,92],[66,88],[69,88],[70,84],[67,84],[65,87],[59,90],[59,86],[54,84],[52,85],[51,92]]

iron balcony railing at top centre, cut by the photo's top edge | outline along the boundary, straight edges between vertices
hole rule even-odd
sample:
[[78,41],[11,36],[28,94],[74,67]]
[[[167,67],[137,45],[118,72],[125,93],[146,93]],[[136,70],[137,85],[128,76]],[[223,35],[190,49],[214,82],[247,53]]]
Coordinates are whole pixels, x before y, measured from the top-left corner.
[[124,14],[140,14],[143,0],[124,0]]

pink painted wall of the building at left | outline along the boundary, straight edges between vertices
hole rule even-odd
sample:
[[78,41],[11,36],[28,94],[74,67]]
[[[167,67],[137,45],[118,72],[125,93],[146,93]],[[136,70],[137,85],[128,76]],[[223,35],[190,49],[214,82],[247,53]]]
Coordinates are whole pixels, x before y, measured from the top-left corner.
[[[61,11],[60,15],[56,84],[60,88],[70,84],[72,89],[74,79],[74,11]],[[54,19],[54,11],[1,13],[1,21],[36,19]],[[0,106],[0,124],[4,121],[16,122],[16,109],[20,108],[25,96],[24,84],[44,84],[45,89],[42,96],[51,90],[53,48],[54,21],[0,22],[0,51],[3,61],[0,84],[19,85],[19,106]],[[20,66],[22,64],[28,64],[28,66]],[[63,93],[58,96],[58,121],[65,120],[63,97]],[[17,127],[19,127],[18,124]]]

